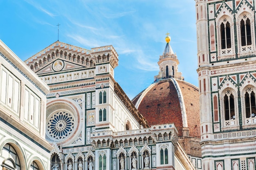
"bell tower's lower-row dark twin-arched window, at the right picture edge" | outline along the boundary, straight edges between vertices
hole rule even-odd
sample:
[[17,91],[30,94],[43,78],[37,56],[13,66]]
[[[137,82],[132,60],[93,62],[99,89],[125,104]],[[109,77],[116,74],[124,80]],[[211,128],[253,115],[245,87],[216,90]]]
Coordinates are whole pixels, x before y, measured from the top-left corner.
[[252,88],[247,88],[245,93],[245,115],[246,118],[256,117],[255,93]]

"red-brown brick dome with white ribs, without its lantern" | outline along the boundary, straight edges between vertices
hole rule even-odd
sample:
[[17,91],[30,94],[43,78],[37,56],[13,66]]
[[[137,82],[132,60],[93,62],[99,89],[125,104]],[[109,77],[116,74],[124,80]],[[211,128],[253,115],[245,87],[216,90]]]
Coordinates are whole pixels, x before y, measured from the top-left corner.
[[189,137],[200,138],[198,88],[188,82],[168,78],[158,80],[139,93],[132,103],[150,126],[174,123],[179,137],[189,130]]

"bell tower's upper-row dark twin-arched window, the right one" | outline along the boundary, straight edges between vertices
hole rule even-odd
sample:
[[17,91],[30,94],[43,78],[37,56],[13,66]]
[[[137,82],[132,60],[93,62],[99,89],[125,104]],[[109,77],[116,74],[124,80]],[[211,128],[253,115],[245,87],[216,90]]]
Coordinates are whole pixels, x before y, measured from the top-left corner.
[[251,23],[247,15],[243,15],[243,19],[240,22],[241,29],[241,45],[252,45],[252,37],[251,37]]

